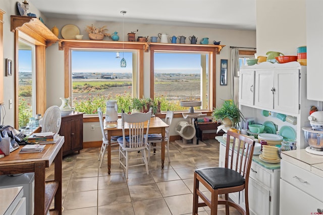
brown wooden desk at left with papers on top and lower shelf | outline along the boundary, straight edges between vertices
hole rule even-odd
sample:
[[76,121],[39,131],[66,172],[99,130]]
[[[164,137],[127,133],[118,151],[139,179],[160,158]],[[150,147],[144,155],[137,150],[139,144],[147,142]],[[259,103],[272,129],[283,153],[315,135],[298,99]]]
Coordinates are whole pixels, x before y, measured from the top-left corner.
[[[40,153],[19,154],[20,149],[0,159],[0,175],[35,173],[35,215],[46,214],[55,198],[50,214],[62,214],[62,146],[64,136],[56,144],[47,144]],[[22,148],[22,147],[20,147]],[[54,180],[45,181],[45,168],[55,162]]]

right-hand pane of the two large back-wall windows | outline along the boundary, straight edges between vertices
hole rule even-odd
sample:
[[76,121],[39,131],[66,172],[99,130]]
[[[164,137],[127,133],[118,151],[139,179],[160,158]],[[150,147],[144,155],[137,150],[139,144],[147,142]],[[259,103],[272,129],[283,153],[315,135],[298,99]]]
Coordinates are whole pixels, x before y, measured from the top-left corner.
[[154,53],[154,100],[160,110],[187,110],[180,101],[201,100],[208,104],[208,57],[203,53]]

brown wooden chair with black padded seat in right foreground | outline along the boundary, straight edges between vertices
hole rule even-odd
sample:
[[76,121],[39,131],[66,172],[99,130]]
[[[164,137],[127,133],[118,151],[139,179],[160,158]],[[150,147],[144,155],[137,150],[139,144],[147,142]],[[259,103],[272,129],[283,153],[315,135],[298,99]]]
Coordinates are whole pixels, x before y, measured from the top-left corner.
[[[194,172],[193,214],[197,214],[198,207],[208,206],[211,215],[218,214],[218,204],[236,208],[241,214],[249,214],[248,182],[255,141],[246,135],[228,131],[226,144],[225,167],[211,167],[196,169]],[[202,183],[210,192],[211,199],[199,190]],[[245,210],[229,199],[229,193],[244,190]],[[218,200],[219,194],[224,194],[224,200]],[[198,198],[202,201],[199,202]]]

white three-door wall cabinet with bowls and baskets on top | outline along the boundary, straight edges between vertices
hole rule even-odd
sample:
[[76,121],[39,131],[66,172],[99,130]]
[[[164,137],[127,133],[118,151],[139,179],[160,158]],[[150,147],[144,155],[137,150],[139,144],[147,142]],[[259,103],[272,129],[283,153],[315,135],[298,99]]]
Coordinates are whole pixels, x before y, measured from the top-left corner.
[[239,103],[298,114],[301,66],[298,62],[286,64],[264,62],[252,68],[242,67]]

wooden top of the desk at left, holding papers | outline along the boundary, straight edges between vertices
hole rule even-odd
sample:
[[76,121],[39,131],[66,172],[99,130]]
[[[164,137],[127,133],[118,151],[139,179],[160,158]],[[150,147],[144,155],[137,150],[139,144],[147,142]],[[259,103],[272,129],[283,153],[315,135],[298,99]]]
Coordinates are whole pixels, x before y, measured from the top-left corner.
[[46,144],[45,149],[39,153],[19,154],[21,146],[19,149],[11,152],[10,155],[0,158],[0,175],[2,172],[1,167],[5,165],[45,162],[45,167],[49,167],[62,148],[64,140],[64,136],[60,136],[56,144]]

